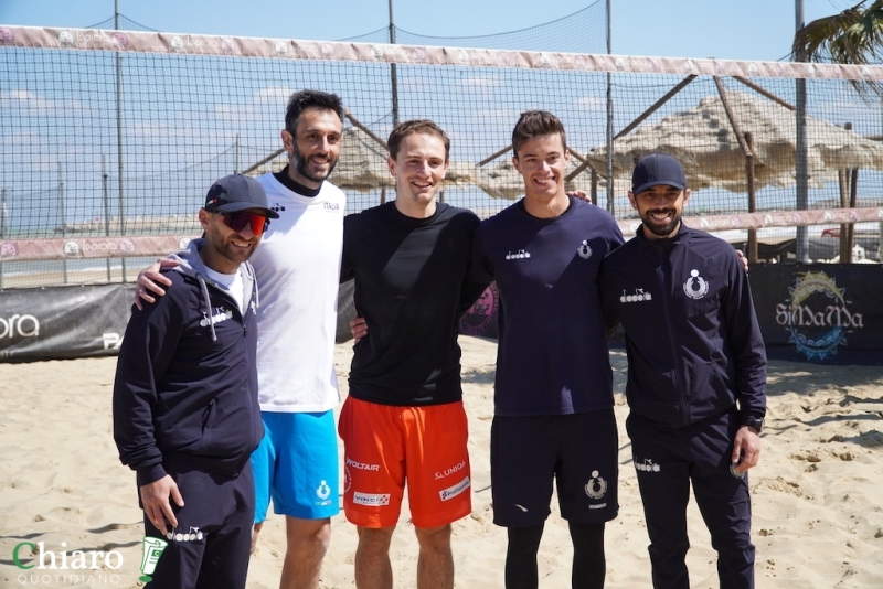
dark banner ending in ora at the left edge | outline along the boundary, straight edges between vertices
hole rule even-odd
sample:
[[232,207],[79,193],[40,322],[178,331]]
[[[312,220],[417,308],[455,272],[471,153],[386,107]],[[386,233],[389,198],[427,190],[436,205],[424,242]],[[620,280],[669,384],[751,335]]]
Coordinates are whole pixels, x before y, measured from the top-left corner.
[[134,286],[0,291],[0,362],[116,355]]

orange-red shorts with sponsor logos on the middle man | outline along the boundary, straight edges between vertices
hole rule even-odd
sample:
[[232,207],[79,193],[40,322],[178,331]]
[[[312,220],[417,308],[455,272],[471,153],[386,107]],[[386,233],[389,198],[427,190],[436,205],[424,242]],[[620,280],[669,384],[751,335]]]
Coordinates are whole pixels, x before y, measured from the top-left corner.
[[405,480],[417,527],[443,526],[472,510],[462,401],[398,407],[348,397],[338,431],[343,439],[343,510],[351,523],[395,525]]

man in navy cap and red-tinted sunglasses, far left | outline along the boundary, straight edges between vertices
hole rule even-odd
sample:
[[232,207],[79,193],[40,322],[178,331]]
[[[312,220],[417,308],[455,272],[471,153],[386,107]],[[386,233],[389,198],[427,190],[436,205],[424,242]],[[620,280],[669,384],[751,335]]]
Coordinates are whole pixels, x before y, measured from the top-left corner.
[[[114,439],[137,472],[145,535],[164,549],[150,587],[245,587],[264,435],[257,282],[248,258],[270,218],[264,188],[215,182],[204,232],[163,270],[174,288],[132,313],[114,382]],[[146,571],[147,572],[147,571]]]

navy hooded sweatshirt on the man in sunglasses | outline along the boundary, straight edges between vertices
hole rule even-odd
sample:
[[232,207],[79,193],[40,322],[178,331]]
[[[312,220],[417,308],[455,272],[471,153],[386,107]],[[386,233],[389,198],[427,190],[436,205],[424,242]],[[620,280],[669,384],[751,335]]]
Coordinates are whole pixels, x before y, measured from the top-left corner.
[[162,272],[164,297],[132,310],[114,382],[114,439],[138,485],[163,478],[163,459],[187,454],[205,470],[236,476],[264,435],[257,404],[257,285],[240,266],[243,309],[209,278],[202,239]]

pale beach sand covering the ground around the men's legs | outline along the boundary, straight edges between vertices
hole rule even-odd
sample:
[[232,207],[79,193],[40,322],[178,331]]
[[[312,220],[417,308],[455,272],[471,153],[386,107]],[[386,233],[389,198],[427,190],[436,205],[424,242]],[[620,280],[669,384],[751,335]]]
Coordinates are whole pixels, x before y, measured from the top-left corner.
[[[496,588],[502,587],[506,554],[506,533],[492,523],[488,463],[496,343],[461,338],[461,345],[474,507],[454,524],[456,586]],[[351,346],[340,344],[344,394],[350,357]],[[619,517],[607,525],[607,587],[647,588],[648,540],[625,436],[621,351],[613,353],[613,364],[621,470]],[[0,588],[140,586],[135,475],[119,464],[111,437],[115,366],[113,357],[0,364]],[[883,587],[883,371],[773,362],[768,393],[763,454],[751,474],[757,587]],[[715,588],[715,554],[692,503],[689,521],[692,587]],[[18,568],[14,547],[41,542],[58,563],[62,551],[114,554],[107,564],[99,557],[94,570]],[[337,516],[321,587],[354,586],[354,527]],[[18,554],[25,566],[34,563],[28,546]],[[278,587],[284,554],[283,518],[273,515],[247,587]],[[391,554],[395,587],[414,587],[417,549],[406,510]],[[539,560],[541,588],[570,587],[570,537],[554,506]]]

